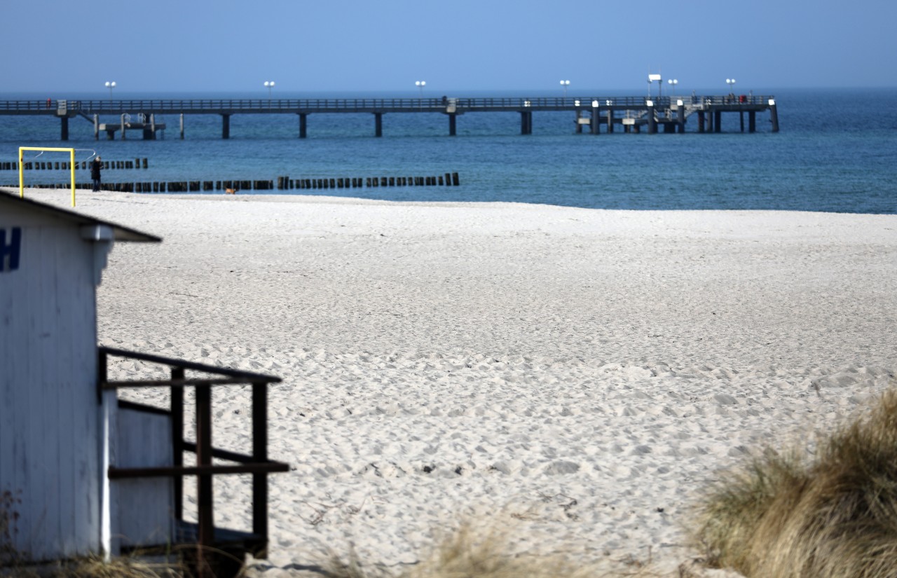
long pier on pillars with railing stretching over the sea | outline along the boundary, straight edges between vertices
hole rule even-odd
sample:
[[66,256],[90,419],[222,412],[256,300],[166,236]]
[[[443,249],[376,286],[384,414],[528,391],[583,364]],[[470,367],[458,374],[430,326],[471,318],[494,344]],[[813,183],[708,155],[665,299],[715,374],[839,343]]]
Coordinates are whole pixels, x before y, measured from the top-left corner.
[[[69,119],[82,117],[93,125],[94,138],[127,138],[138,131],[152,140],[164,131],[156,116],[178,115],[179,137],[185,135],[188,115],[219,115],[222,139],[231,137],[233,115],[291,115],[298,117],[298,137],[306,138],[309,116],[318,114],[369,113],[374,117],[374,135],[383,136],[387,114],[441,114],[448,117],[448,134],[457,134],[458,116],[467,113],[516,112],[520,134],[533,134],[534,113],[570,112],[577,134],[648,134],[685,132],[690,118],[697,118],[697,133],[721,133],[723,115],[738,116],[738,130],[756,131],[757,114],[768,113],[773,133],[779,132],[775,98],[753,94],[689,97],[542,97],[453,99],[161,99],[161,100],[0,100],[0,115],[54,116],[60,120],[60,138],[68,140]],[[116,116],[116,123],[100,123],[100,115]],[[602,127],[605,127],[602,131]]]

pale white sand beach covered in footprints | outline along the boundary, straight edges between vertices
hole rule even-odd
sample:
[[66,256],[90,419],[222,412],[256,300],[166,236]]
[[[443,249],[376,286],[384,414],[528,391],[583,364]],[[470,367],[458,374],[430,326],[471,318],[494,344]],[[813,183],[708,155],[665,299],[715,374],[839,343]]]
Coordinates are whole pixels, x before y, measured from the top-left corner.
[[[100,344],[283,377],[267,578],[350,546],[414,563],[463,520],[672,573],[718,470],[897,384],[897,215],[88,191],[75,210],[164,239],[109,255]],[[214,443],[244,449],[248,393],[214,403]],[[248,479],[215,499],[246,527]]]

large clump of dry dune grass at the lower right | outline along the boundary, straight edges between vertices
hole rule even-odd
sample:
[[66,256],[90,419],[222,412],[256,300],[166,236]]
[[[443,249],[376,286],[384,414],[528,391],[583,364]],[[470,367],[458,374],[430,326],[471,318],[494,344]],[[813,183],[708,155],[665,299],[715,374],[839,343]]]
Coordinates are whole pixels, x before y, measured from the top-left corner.
[[822,439],[813,461],[767,452],[723,479],[697,538],[749,577],[897,576],[897,392]]

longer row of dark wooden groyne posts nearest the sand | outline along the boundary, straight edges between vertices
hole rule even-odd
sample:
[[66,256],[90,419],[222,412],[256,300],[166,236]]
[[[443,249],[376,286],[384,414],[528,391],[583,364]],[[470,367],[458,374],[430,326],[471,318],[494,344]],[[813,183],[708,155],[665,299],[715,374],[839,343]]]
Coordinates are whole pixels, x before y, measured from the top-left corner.
[[[100,189],[120,193],[198,193],[208,191],[284,191],[288,189],[342,189],[378,186],[458,186],[457,173],[438,177],[340,177],[290,178],[247,181],[172,181],[145,183],[104,183]],[[29,188],[63,188],[67,185],[28,185]],[[90,188],[89,183],[75,183],[75,188]]]

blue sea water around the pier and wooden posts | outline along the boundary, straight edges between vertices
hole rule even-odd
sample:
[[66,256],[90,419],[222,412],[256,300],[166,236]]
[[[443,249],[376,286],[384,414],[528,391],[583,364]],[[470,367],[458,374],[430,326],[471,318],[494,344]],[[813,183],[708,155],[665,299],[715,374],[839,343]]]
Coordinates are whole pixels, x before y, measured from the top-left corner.
[[[725,91],[697,91],[721,95]],[[458,186],[241,191],[240,194],[321,194],[388,201],[545,203],[626,210],[773,210],[853,213],[897,212],[897,91],[893,89],[783,89],[753,91],[776,99],[779,132],[758,113],[756,132],[741,132],[738,115],[724,113],[721,133],[697,132],[697,116],[684,134],[614,134],[575,131],[571,112],[535,112],[532,134],[520,134],[518,113],[467,113],[448,135],[448,116],[383,116],[383,136],[370,114],[312,114],[300,139],[294,114],[231,116],[222,140],[217,115],[157,116],[166,130],[155,141],[139,131],[100,140],[93,125],[75,117],[69,140],[60,122],[43,116],[0,116],[0,163],[18,147],[74,147],[76,160],[146,159],[147,168],[110,168],[104,183],[276,180],[278,177],[428,177],[457,173]],[[637,96],[638,91],[582,95]],[[274,98],[414,98],[384,92],[290,93]],[[425,94],[425,97],[442,95]],[[538,91],[467,91],[448,97],[561,96]],[[646,95],[647,96],[647,95]],[[109,99],[97,93],[0,93],[0,100]],[[116,92],[114,99],[266,99],[257,93]],[[577,95],[570,93],[570,98]],[[117,116],[100,122],[118,122]],[[746,129],[746,115],[745,115]],[[26,154],[34,160],[36,152]],[[56,156],[53,156],[56,155]],[[44,153],[40,160],[67,160]],[[27,171],[25,183],[60,184],[62,170]],[[89,182],[80,170],[78,182]],[[0,185],[18,186],[15,170],[0,170]],[[144,193],[152,194],[152,193]],[[205,191],[194,194],[222,194]]]

